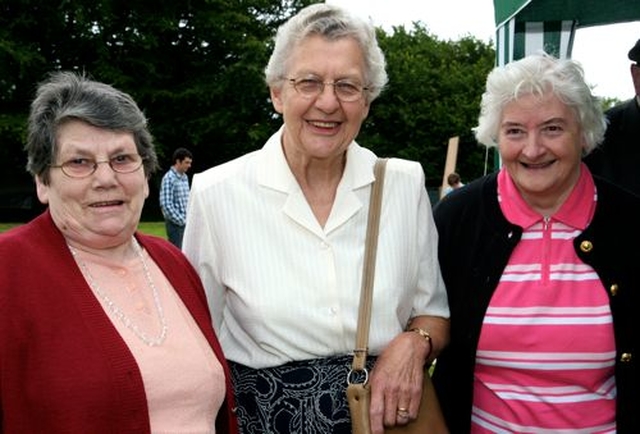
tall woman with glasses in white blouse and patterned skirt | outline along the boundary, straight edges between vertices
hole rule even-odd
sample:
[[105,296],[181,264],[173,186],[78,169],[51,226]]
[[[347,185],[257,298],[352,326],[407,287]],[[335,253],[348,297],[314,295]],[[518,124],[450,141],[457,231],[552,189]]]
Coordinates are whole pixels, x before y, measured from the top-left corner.
[[[241,431],[351,433],[377,158],[354,140],[385,59],[372,25],[319,3],[279,28],[265,75],[283,124],[260,150],[194,176],[183,250],[230,360]],[[389,160],[367,359],[376,434],[417,416],[425,363],[448,339],[424,182],[419,163]]]

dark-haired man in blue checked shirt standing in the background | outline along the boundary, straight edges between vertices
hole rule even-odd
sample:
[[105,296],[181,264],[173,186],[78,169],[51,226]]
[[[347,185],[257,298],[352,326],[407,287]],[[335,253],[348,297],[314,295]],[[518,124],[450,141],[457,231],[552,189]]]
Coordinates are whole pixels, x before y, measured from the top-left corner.
[[169,241],[176,247],[182,248],[189,202],[187,171],[193,162],[193,154],[186,148],[178,148],[173,152],[171,161],[173,165],[164,174],[160,184],[160,209]]

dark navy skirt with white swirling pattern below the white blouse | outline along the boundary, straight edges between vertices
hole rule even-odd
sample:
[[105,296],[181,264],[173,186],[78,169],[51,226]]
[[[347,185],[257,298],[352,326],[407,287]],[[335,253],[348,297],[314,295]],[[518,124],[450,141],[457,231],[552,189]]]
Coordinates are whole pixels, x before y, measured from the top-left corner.
[[[264,369],[229,362],[240,433],[351,434],[346,388],[352,361],[340,356]],[[374,362],[368,357],[369,370]]]

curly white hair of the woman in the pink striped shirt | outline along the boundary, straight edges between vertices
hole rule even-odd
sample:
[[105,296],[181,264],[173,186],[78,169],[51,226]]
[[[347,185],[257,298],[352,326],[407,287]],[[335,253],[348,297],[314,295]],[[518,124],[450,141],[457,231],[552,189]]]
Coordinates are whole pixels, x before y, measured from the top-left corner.
[[600,100],[591,93],[579,63],[544,52],[496,67],[489,73],[475,130],[478,141],[496,146],[505,106],[522,96],[542,96],[549,91],[575,114],[586,143],[583,155],[589,154],[602,142],[607,129]]

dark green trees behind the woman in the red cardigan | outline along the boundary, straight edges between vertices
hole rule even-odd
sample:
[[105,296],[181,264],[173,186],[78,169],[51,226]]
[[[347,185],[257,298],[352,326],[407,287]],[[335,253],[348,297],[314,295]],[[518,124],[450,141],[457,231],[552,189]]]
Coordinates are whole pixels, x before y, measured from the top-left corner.
[[[178,146],[193,150],[196,171],[255,148],[276,122],[262,78],[271,36],[309,3],[1,0],[1,185],[33,188],[22,152],[28,104],[54,70],[131,93],[165,168]],[[145,211],[157,211],[155,199]]]

